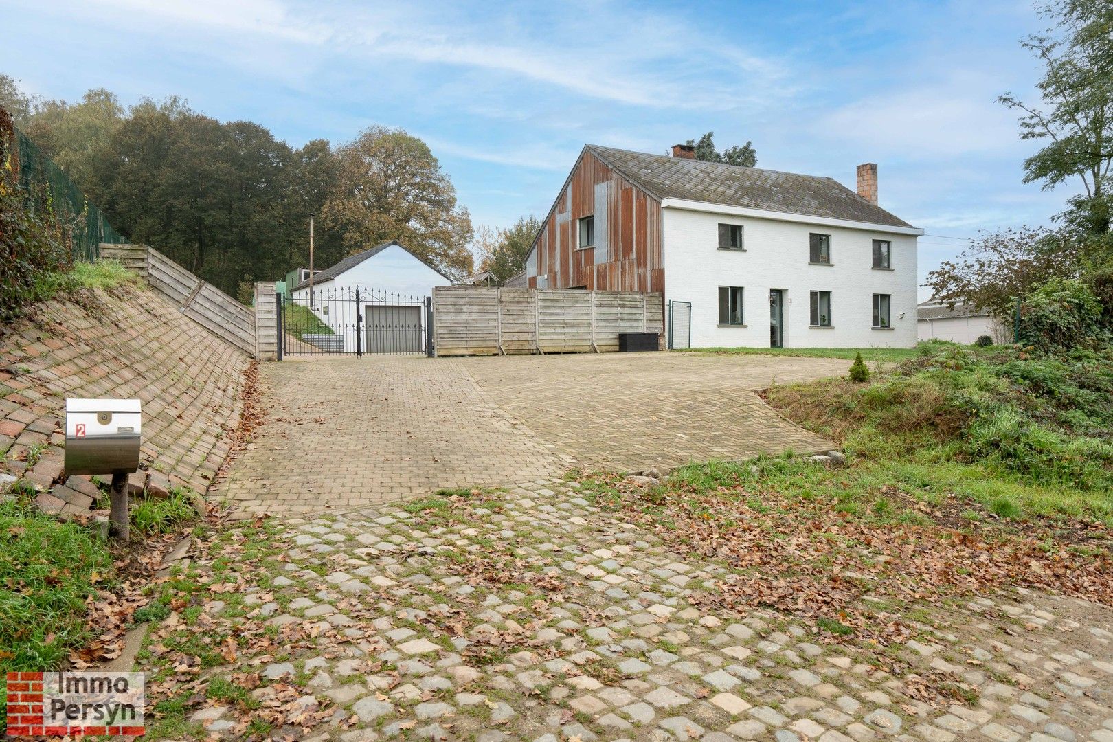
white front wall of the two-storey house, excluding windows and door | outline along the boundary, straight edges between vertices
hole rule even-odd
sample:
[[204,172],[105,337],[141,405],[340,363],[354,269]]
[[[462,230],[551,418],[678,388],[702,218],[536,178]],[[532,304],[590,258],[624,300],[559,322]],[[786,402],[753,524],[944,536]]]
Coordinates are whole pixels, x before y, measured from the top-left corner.
[[[666,306],[669,300],[691,301],[691,347],[769,347],[770,289],[784,291],[785,347],[916,345],[915,234],[703,208],[717,207],[666,201],[661,212]],[[719,224],[742,226],[745,250],[719,249]],[[830,235],[830,265],[809,264],[811,233]],[[892,244],[892,269],[873,267],[874,239]],[[743,326],[719,324],[720,286],[743,288]],[[811,326],[812,290],[830,291],[830,327]],[[874,294],[892,297],[888,328],[873,327]]]

